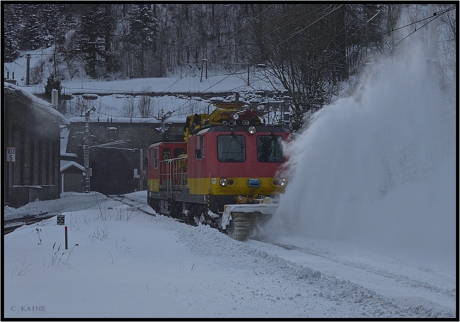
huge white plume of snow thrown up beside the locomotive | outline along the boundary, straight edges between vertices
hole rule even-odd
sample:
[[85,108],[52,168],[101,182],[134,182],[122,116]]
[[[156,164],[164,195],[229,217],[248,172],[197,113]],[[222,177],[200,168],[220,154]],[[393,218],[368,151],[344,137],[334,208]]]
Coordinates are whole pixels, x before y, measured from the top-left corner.
[[422,53],[373,63],[353,97],[286,146],[291,179],[267,234],[455,260],[455,93],[441,93]]

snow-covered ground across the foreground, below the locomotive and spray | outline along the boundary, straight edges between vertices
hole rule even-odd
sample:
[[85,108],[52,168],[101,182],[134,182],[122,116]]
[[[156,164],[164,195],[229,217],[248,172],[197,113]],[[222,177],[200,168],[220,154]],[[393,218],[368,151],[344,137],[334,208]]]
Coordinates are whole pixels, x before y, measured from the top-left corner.
[[[127,196],[154,213],[146,191]],[[267,236],[239,242],[97,192],[67,192],[61,199],[24,208],[61,207],[67,250],[56,217],[4,237],[5,317],[456,315],[454,275],[356,245]],[[83,203],[92,205],[66,211]]]

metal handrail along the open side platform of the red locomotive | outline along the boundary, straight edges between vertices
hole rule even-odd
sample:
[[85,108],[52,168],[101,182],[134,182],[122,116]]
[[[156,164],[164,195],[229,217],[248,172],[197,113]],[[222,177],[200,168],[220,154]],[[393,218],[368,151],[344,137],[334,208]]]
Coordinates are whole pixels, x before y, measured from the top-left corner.
[[160,187],[168,191],[168,196],[172,196],[173,190],[187,186],[186,156],[160,161]]

